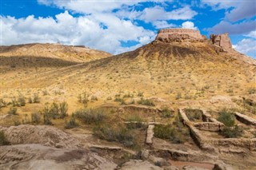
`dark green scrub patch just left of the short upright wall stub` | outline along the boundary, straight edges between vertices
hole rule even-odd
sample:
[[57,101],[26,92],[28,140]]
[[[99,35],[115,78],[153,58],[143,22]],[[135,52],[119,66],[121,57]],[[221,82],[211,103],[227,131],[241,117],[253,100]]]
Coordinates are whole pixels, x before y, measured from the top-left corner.
[[94,127],[94,136],[98,136],[102,140],[116,141],[126,147],[136,147],[137,142],[128,128],[118,125],[100,125]]

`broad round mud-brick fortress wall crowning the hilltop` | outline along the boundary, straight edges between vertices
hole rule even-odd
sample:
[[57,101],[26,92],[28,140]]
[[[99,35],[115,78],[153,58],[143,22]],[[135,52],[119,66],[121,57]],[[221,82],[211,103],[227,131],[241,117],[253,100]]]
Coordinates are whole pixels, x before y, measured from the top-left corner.
[[158,31],[156,40],[163,42],[203,42],[206,40],[198,30],[164,29]]

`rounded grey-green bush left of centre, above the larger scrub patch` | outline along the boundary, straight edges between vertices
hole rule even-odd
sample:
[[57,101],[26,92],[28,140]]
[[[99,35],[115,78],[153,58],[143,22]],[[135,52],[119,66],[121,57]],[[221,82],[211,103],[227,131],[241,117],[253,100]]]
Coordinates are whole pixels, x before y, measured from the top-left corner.
[[74,115],[85,124],[100,124],[107,119],[102,109],[79,109]]

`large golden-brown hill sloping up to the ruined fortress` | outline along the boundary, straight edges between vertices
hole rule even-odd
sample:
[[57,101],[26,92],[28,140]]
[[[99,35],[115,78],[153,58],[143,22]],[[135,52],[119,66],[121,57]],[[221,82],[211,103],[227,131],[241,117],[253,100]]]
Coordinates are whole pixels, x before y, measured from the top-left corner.
[[[196,39],[189,34],[166,39],[158,36],[148,45],[114,57],[28,74],[14,81],[3,75],[2,80],[13,85],[19,82],[20,88],[62,85],[66,90],[72,87],[79,93],[89,89],[102,99],[114,97],[120,91],[143,92],[146,97],[166,100],[178,96],[186,100],[234,96],[246,94],[256,85],[254,59],[229,45],[223,49],[211,39],[203,36]],[[229,38],[226,41],[229,42]]]

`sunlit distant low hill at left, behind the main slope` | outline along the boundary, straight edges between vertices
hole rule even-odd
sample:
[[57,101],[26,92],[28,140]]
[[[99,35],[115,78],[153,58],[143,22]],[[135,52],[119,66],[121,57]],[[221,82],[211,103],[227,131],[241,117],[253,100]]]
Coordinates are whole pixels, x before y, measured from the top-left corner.
[[[99,51],[96,49],[90,49],[86,46],[77,45],[61,45],[61,44],[25,44],[25,45],[10,45],[0,47],[0,57],[2,62],[7,62],[10,58],[2,57],[13,57],[15,62],[19,62],[18,59],[25,58],[25,60],[34,60],[33,57],[38,57],[40,64],[44,65],[44,58],[47,58],[45,62],[50,60],[66,61],[70,62],[85,62],[93,61],[103,57],[110,57],[110,53]],[[7,61],[6,61],[7,60]],[[16,60],[16,61],[15,61]],[[21,59],[20,59],[21,60]],[[22,61],[22,60],[21,60]],[[42,62],[41,62],[42,61]],[[29,61],[28,61],[29,62]],[[55,63],[55,62],[54,62]],[[34,63],[36,64],[36,62]],[[25,65],[26,66],[26,65]]]

